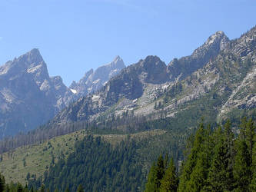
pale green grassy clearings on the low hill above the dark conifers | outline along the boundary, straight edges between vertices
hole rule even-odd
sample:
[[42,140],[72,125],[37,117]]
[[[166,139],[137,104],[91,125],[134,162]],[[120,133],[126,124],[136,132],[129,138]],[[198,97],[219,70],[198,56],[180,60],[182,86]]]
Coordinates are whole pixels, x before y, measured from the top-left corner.
[[[144,131],[138,134],[131,134],[130,137],[139,140],[145,137],[165,134],[165,132],[162,130]],[[36,174],[37,177],[42,176],[51,164],[56,163],[61,157],[67,157],[74,150],[75,141],[81,141],[85,135],[85,131],[77,131],[72,134],[55,137],[42,144],[18,147],[14,151],[2,154],[1,173],[5,175],[7,183],[12,180],[25,184],[28,173],[31,176],[33,174]],[[94,136],[99,135],[94,134]],[[115,144],[128,137],[128,134],[101,134],[100,136],[104,141],[115,146]]]

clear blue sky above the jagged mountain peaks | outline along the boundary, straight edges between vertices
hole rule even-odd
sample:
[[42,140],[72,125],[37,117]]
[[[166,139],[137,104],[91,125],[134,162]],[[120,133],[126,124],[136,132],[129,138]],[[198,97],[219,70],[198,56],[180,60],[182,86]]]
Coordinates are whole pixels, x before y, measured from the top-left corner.
[[39,48],[49,74],[69,85],[116,55],[168,64],[215,31],[239,38],[256,25],[255,9],[255,0],[1,0],[0,65]]

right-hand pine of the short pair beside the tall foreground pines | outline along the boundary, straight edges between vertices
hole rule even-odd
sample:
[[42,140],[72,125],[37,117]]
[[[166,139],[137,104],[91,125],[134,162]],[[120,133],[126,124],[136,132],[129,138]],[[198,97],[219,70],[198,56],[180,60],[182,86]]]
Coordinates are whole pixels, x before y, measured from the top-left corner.
[[175,192],[178,188],[178,177],[176,175],[176,167],[171,158],[168,164],[167,170],[165,170],[165,176],[161,180],[160,191],[161,192]]

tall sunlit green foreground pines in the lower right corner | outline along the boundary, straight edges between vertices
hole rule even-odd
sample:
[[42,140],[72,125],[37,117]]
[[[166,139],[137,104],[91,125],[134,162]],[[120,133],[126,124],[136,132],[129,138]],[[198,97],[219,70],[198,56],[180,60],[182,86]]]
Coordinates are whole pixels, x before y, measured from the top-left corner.
[[175,187],[181,192],[256,191],[255,135],[252,119],[242,119],[237,137],[234,137],[229,120],[224,127],[219,126],[214,131],[201,123],[196,133],[189,137],[179,183],[175,166],[171,163],[165,169],[159,187],[152,178],[158,178],[157,170],[161,164],[153,164],[146,191],[175,191]]

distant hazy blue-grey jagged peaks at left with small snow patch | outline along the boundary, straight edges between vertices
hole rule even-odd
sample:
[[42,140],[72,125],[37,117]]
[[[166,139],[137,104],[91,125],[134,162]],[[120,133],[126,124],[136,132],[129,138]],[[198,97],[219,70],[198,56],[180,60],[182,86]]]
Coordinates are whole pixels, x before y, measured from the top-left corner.
[[32,130],[52,119],[71,101],[98,91],[125,65],[120,57],[89,71],[67,88],[59,76],[50,77],[38,49],[0,67],[0,138]]

